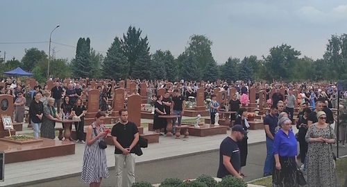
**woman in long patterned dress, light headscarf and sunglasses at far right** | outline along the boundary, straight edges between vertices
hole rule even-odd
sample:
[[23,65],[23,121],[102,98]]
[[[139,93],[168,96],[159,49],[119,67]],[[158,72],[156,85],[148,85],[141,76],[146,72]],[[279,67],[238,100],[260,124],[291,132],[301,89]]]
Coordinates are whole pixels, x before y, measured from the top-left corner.
[[336,135],[330,124],[325,122],[323,111],[319,111],[316,117],[318,122],[309,127],[305,136],[308,143],[305,172],[307,187],[335,187],[338,184],[331,145],[336,142]]

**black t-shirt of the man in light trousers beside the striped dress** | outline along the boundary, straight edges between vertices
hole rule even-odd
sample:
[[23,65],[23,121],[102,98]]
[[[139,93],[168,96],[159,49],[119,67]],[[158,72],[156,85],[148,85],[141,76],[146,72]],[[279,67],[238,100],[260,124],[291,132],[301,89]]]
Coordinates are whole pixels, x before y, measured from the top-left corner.
[[[121,145],[121,147],[128,148],[131,143],[133,143],[135,133],[138,133],[139,129],[133,122],[128,122],[127,124],[121,124],[117,122],[112,127],[111,136],[117,137],[117,142]],[[115,147],[115,154],[122,154],[120,149]],[[134,149],[130,150],[130,153],[135,153]]]

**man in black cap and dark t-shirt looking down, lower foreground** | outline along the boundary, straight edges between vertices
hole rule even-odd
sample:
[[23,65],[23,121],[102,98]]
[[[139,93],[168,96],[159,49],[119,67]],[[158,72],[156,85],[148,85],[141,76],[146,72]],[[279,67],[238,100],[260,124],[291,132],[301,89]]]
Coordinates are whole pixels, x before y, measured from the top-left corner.
[[241,124],[236,124],[231,129],[230,136],[226,137],[219,147],[219,168],[217,172],[218,178],[232,175],[239,179],[243,177],[239,174],[241,168],[240,152],[237,147],[237,142],[241,141],[246,135],[247,131],[244,130]]

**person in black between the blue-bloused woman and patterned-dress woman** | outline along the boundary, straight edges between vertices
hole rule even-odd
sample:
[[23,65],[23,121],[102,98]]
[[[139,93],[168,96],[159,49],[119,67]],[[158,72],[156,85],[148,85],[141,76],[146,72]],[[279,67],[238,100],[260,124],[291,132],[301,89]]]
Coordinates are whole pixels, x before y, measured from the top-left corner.
[[308,149],[308,143],[305,140],[305,136],[307,133],[307,116],[311,113],[310,108],[304,108],[303,109],[304,115],[302,115],[298,119],[298,123],[296,123],[296,129],[299,129],[298,132],[298,142],[300,144],[300,159],[301,163],[305,163],[305,157],[307,154],[307,149]]

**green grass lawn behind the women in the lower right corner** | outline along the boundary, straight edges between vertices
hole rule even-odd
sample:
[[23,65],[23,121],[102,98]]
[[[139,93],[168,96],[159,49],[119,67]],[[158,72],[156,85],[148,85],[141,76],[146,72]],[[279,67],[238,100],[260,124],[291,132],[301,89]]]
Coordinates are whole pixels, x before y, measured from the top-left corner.
[[[339,182],[339,186],[344,186],[347,174],[347,157],[340,158],[339,160],[337,160],[335,171],[337,175],[337,181]],[[254,181],[252,184],[271,187],[272,177],[266,177],[264,179]]]

